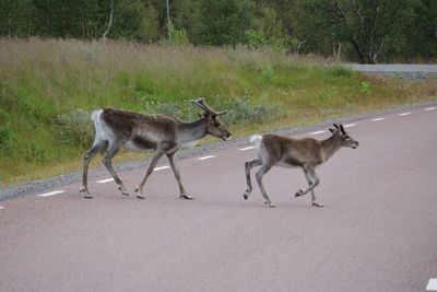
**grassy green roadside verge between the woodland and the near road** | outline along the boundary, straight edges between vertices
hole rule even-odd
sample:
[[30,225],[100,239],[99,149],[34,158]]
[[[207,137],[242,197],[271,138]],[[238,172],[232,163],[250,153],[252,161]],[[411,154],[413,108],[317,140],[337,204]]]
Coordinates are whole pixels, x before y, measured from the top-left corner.
[[87,117],[99,107],[192,119],[188,101],[204,96],[229,110],[232,132],[248,135],[437,95],[435,80],[401,83],[324,62],[232,48],[0,39],[0,185],[80,170],[93,139]]

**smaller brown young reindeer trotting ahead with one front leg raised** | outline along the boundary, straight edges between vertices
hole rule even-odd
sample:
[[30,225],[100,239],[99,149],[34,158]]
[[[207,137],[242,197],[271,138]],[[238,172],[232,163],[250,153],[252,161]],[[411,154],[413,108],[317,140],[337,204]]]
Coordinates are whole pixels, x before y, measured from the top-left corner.
[[274,207],[270,201],[262,184],[262,177],[275,165],[283,167],[300,167],[304,171],[308,182],[308,188],[299,189],[295,197],[300,197],[311,191],[311,201],[314,207],[323,207],[319,202],[314,192],[314,188],[319,184],[319,178],[316,175],[315,168],[330,159],[341,147],[357,148],[358,142],[352,139],[345,131],[342,125],[334,124],[334,128],[329,129],[332,136],[326,140],[319,141],[312,138],[287,138],[277,135],[255,135],[250,141],[256,143],[257,157],[246,162],[246,180],[247,188],[244,194],[245,200],[252,191],[250,182],[250,170],[253,166],[259,166],[256,173],[257,183],[261,190],[264,202],[269,207]]

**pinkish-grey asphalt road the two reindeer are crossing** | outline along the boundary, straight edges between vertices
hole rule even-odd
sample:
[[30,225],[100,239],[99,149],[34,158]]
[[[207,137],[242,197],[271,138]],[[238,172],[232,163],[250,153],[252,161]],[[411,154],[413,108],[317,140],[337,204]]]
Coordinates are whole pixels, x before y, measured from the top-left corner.
[[[359,141],[320,166],[310,196],[299,170],[274,168],[249,200],[250,147],[179,161],[194,200],[168,168],[145,200],[115,183],[1,201],[0,291],[426,291],[437,289],[437,109],[354,121]],[[326,129],[320,129],[326,130]],[[319,139],[327,132],[303,135]],[[120,173],[130,190],[144,170]]]

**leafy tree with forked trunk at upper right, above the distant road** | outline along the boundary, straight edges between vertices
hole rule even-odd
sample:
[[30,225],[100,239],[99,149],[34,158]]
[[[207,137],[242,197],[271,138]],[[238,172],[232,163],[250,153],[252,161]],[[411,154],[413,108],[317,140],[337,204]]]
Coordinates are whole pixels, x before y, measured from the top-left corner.
[[[315,0],[302,1],[308,27],[331,43],[347,43],[362,63],[402,44],[403,30],[413,17],[412,0]],[[305,21],[305,20],[304,20]]]

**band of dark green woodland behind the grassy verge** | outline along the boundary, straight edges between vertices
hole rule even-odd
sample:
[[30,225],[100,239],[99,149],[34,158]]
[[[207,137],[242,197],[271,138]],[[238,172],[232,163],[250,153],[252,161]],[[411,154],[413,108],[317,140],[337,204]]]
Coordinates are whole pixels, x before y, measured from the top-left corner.
[[[3,0],[0,36],[99,39],[111,1]],[[168,45],[166,14],[166,1],[116,0],[107,38]],[[366,63],[437,59],[435,0],[174,0],[169,15],[177,46],[245,45]]]

